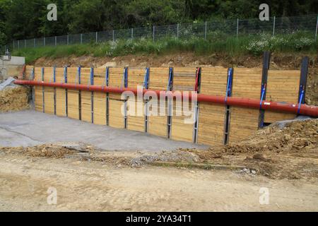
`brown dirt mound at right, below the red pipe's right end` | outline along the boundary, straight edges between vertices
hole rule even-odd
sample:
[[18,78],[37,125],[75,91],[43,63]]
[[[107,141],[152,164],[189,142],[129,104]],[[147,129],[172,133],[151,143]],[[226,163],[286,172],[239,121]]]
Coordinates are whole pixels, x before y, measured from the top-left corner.
[[317,153],[318,119],[272,124],[249,139],[235,145],[226,145],[225,153]]

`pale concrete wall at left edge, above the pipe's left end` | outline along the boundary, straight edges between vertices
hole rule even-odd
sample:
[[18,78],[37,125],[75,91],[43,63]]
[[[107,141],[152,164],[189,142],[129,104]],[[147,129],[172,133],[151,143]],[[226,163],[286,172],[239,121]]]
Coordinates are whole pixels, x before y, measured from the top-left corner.
[[8,56],[0,57],[0,80],[5,80],[8,77],[19,76],[25,64],[24,57],[11,57]]

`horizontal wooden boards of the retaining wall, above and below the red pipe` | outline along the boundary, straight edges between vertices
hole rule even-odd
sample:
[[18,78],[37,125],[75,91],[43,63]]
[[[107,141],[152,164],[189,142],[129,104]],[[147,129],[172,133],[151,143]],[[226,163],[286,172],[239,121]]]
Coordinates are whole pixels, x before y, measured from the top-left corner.
[[[172,70],[171,85],[168,85]],[[199,70],[199,72],[198,72]],[[263,69],[264,70],[264,69]],[[262,69],[234,68],[232,73],[233,97],[261,99]],[[228,69],[211,68],[150,68],[148,69],[148,88],[150,90],[195,91],[206,95],[226,96],[228,90]],[[198,73],[197,73],[198,72]],[[268,71],[266,100],[298,103],[300,92],[300,71]],[[81,83],[82,85],[109,85],[111,87],[137,88],[145,85],[146,69],[131,68],[39,68],[27,66],[25,79],[56,83]],[[55,79],[54,79],[55,76]],[[197,77],[198,76],[198,77]],[[125,83],[126,80],[126,83]],[[114,93],[92,93],[88,91],[65,90],[35,86],[35,109],[59,117],[81,119],[93,124],[109,125],[119,129],[147,132],[176,141],[196,142],[206,145],[236,143],[248,138],[259,129],[260,109],[227,107],[199,102],[189,105],[187,116],[177,115],[183,108],[175,101],[165,103],[165,113],[170,109],[172,117],[146,116],[146,112],[160,112],[160,102],[137,100]],[[141,115],[131,115],[129,110],[139,107]],[[122,114],[122,112],[124,114]],[[182,112],[182,111],[181,111]],[[293,119],[295,114],[268,112],[264,113],[264,123],[273,123],[283,119]],[[187,122],[186,122],[187,121]],[[190,121],[190,123],[189,123]]]

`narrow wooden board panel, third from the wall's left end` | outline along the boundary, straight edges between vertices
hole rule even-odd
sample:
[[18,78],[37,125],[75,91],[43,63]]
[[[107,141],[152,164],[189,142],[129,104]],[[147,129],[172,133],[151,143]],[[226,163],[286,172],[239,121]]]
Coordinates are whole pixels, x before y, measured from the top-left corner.
[[[44,81],[47,83],[54,82],[54,69],[44,68]],[[45,113],[54,114],[54,88],[45,87]]]

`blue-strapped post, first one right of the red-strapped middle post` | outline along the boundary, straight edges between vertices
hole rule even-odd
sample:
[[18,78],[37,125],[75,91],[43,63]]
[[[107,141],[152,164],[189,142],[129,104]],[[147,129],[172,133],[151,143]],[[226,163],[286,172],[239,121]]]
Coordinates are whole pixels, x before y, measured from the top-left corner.
[[234,69],[228,69],[228,82],[226,85],[226,93],[225,93],[225,120],[224,120],[224,138],[223,143],[226,145],[229,141],[230,134],[230,106],[227,105],[228,97],[232,96],[232,87],[233,87],[233,75]]

